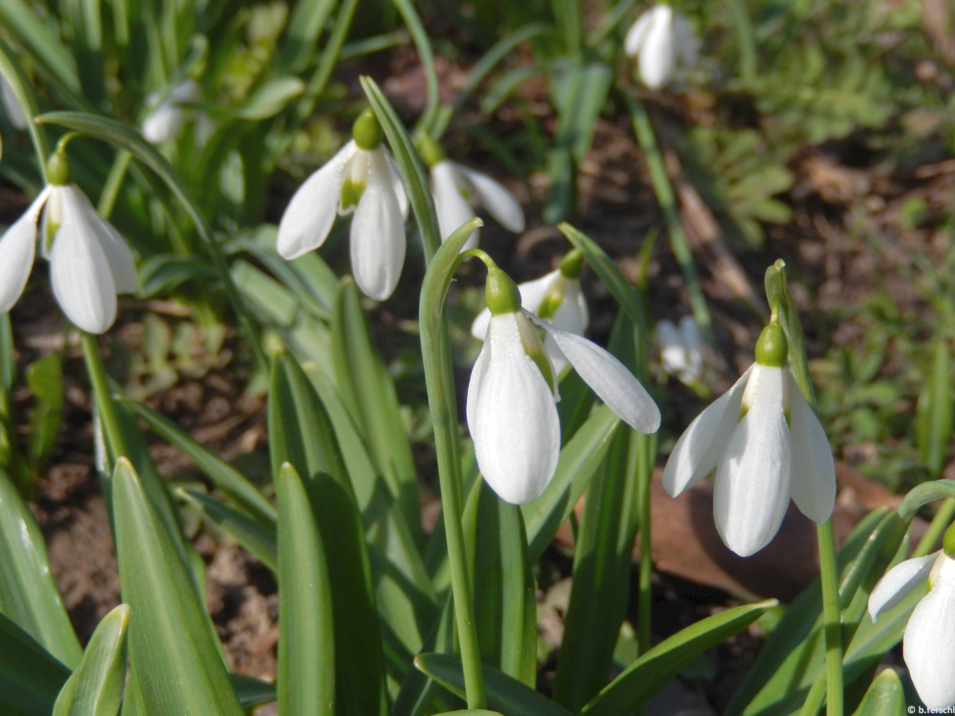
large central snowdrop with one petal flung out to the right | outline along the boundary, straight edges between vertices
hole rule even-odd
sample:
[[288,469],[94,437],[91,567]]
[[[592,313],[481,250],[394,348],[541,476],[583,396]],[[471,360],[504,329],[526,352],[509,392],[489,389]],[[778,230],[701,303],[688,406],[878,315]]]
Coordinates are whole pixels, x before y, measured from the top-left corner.
[[535,325],[553,337],[584,381],[627,425],[640,432],[660,427],[653,399],[620,361],[522,310],[517,284],[493,264],[485,293],[491,318],[471,372],[467,421],[477,466],[502,499],[523,504],[541,495],[561,452],[556,376]]

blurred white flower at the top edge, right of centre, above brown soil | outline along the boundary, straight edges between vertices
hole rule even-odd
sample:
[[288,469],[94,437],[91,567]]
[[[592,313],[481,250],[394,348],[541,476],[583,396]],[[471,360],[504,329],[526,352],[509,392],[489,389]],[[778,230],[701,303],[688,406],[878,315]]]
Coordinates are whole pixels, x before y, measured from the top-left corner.
[[699,53],[686,19],[668,5],[656,5],[637,18],[626,32],[624,52],[638,58],[640,78],[651,90],[669,82],[678,59],[689,67]]

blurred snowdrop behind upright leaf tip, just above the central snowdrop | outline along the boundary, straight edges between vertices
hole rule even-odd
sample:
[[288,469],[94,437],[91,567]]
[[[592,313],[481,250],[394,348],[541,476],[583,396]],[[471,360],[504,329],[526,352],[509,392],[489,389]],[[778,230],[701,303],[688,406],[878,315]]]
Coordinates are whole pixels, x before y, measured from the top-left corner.
[[[431,172],[431,191],[435,196],[437,225],[443,242],[458,226],[475,216],[473,207],[483,206],[508,231],[524,230],[524,212],[520,203],[496,179],[481,174],[444,156],[431,137],[422,135],[418,149]],[[462,251],[477,248],[480,232],[475,230]]]

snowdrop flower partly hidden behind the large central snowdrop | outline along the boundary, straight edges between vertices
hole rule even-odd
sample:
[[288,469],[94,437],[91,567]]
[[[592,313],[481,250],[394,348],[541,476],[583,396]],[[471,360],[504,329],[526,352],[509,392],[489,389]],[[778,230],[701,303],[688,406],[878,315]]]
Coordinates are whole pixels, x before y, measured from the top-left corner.
[[[518,284],[520,307],[550,321],[552,326],[579,336],[584,335],[584,330],[590,323],[590,314],[581,291],[580,276],[583,269],[584,254],[575,248],[563,257],[561,267],[556,271],[551,271],[540,279]],[[490,321],[491,309],[485,308],[471,324],[471,335],[478,341],[483,341]],[[543,347],[554,365],[555,373],[560,375],[569,363],[549,333],[544,338]]]

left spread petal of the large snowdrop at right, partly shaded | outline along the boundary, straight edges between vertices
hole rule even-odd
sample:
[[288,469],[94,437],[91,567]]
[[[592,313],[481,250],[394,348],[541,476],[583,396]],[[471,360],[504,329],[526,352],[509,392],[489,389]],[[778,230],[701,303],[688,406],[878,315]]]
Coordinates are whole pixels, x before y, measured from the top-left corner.
[[675,497],[690,489],[716,467],[739,423],[739,406],[752,371],[753,366],[732,384],[730,390],[693,418],[676,441],[663,470],[663,486],[669,496]]

